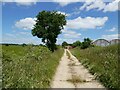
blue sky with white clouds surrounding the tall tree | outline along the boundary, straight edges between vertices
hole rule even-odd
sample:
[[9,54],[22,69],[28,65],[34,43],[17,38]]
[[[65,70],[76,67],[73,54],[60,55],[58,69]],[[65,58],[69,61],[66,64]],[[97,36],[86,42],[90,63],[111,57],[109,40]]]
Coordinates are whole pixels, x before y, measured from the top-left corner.
[[63,41],[83,41],[86,37],[92,40],[118,38],[118,0],[108,3],[98,1],[100,2],[4,2],[2,43],[42,43],[41,39],[31,34],[36,15],[42,10],[56,10],[67,15],[67,25],[58,36],[57,44]]

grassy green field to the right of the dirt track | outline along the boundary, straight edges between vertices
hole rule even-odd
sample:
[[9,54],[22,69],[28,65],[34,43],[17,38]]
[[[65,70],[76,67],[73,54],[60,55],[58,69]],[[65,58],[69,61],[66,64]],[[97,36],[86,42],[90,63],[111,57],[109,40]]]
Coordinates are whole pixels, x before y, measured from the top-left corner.
[[105,87],[120,88],[118,84],[118,45],[83,50],[77,47],[71,52]]

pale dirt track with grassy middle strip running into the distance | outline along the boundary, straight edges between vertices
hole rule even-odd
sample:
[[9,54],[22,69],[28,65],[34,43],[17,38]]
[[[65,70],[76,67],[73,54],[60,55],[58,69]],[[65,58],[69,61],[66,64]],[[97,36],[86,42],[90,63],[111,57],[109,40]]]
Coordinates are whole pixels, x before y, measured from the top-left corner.
[[[70,58],[66,53],[69,53]],[[104,88],[67,49],[61,58],[51,88]]]

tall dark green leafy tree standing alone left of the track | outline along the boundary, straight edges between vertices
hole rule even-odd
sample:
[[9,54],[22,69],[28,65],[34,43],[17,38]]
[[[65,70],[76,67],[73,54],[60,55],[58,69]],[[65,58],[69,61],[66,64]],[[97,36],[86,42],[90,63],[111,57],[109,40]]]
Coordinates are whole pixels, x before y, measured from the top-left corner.
[[42,11],[36,17],[32,35],[42,38],[42,42],[53,52],[56,49],[57,37],[66,25],[66,16],[57,11]]

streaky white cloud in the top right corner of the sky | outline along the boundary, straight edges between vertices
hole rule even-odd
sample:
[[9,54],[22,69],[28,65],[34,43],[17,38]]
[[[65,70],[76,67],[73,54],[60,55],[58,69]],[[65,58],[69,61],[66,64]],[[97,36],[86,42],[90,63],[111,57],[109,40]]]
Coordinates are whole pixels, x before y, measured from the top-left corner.
[[108,4],[105,3],[103,0],[92,0],[87,1],[83,4],[83,6],[80,7],[80,10],[102,10],[103,12],[113,12],[118,10],[118,2],[120,0],[112,0],[112,2],[109,2]]

